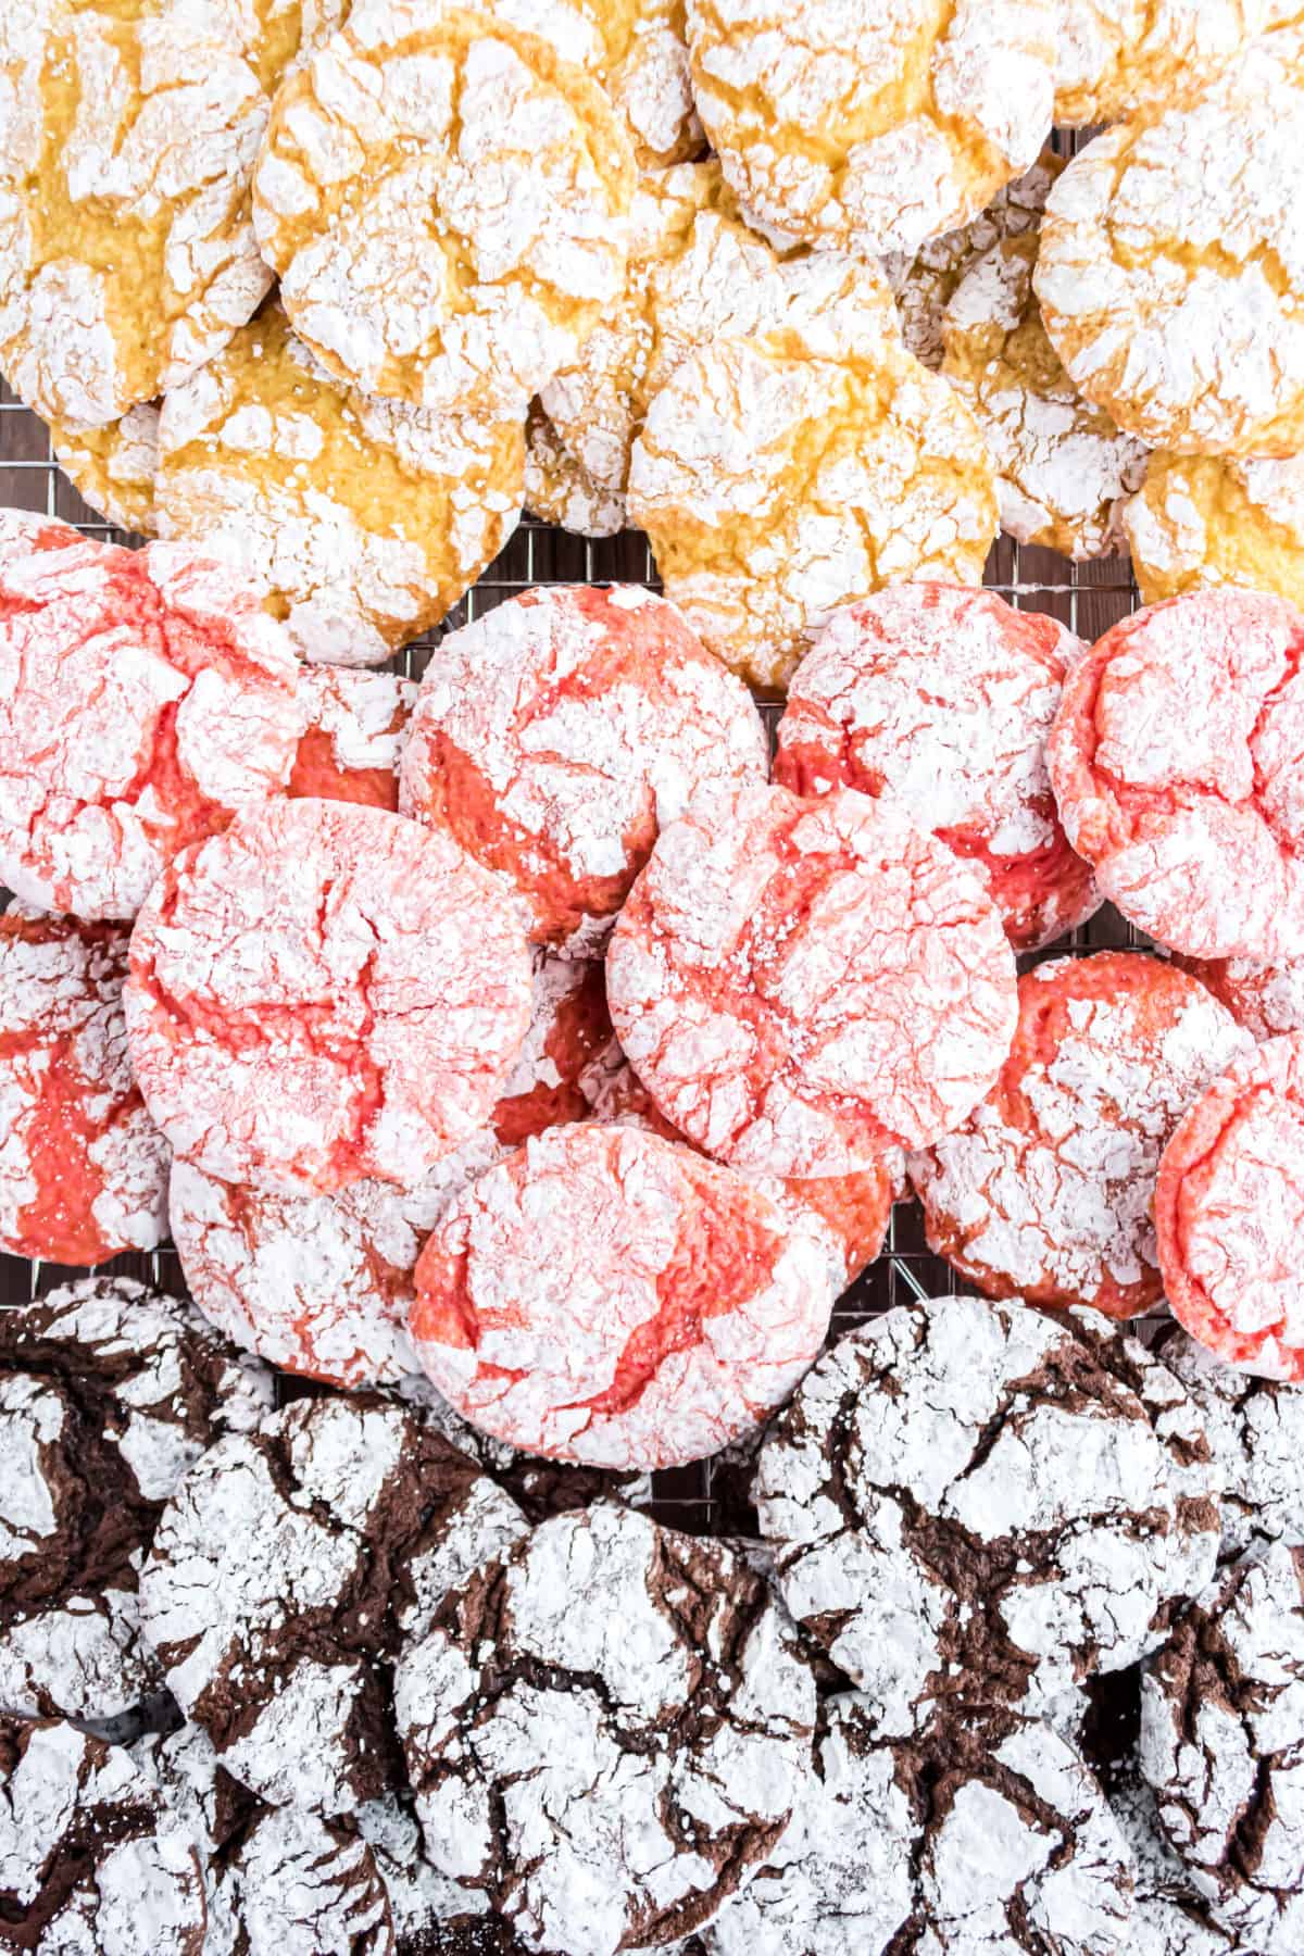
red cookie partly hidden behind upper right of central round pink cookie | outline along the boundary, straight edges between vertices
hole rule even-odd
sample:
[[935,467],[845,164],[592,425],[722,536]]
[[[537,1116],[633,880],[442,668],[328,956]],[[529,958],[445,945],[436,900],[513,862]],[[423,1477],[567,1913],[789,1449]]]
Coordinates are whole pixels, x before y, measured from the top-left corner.
[[895,585],[833,612],[788,689],[774,778],[888,796],[987,884],[1015,951],[1099,906],[1046,773],[1064,677],[1087,647],[993,591]]

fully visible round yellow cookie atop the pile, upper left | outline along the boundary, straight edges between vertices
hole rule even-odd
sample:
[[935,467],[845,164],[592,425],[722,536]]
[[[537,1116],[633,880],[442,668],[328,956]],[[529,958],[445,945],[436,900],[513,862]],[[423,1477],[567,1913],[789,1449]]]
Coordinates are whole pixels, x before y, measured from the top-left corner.
[[606,94],[543,41],[371,0],[282,88],[254,229],[332,374],[524,417],[620,295],[631,194]]

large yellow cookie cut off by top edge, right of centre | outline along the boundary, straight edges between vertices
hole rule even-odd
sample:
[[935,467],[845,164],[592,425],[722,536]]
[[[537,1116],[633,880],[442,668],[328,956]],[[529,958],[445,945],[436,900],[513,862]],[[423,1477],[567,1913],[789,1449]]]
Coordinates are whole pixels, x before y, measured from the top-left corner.
[[688,51],[747,209],[866,256],[966,223],[1050,127],[1050,0],[688,0]]

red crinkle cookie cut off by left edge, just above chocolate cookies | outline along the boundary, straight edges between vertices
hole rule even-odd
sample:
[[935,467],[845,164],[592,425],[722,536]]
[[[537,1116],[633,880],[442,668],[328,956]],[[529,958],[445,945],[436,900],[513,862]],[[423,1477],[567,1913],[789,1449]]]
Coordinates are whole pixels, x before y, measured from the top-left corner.
[[127,933],[0,917],[0,1246],[102,1264],[166,1236],[168,1144],[131,1078]]

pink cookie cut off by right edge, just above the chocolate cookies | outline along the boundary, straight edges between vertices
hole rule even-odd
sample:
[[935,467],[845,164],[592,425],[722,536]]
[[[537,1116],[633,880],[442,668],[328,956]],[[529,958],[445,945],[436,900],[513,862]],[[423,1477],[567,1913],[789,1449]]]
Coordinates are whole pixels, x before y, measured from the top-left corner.
[[1304,1033],[1239,1054],[1159,1162],[1173,1316],[1243,1371],[1304,1379]]

